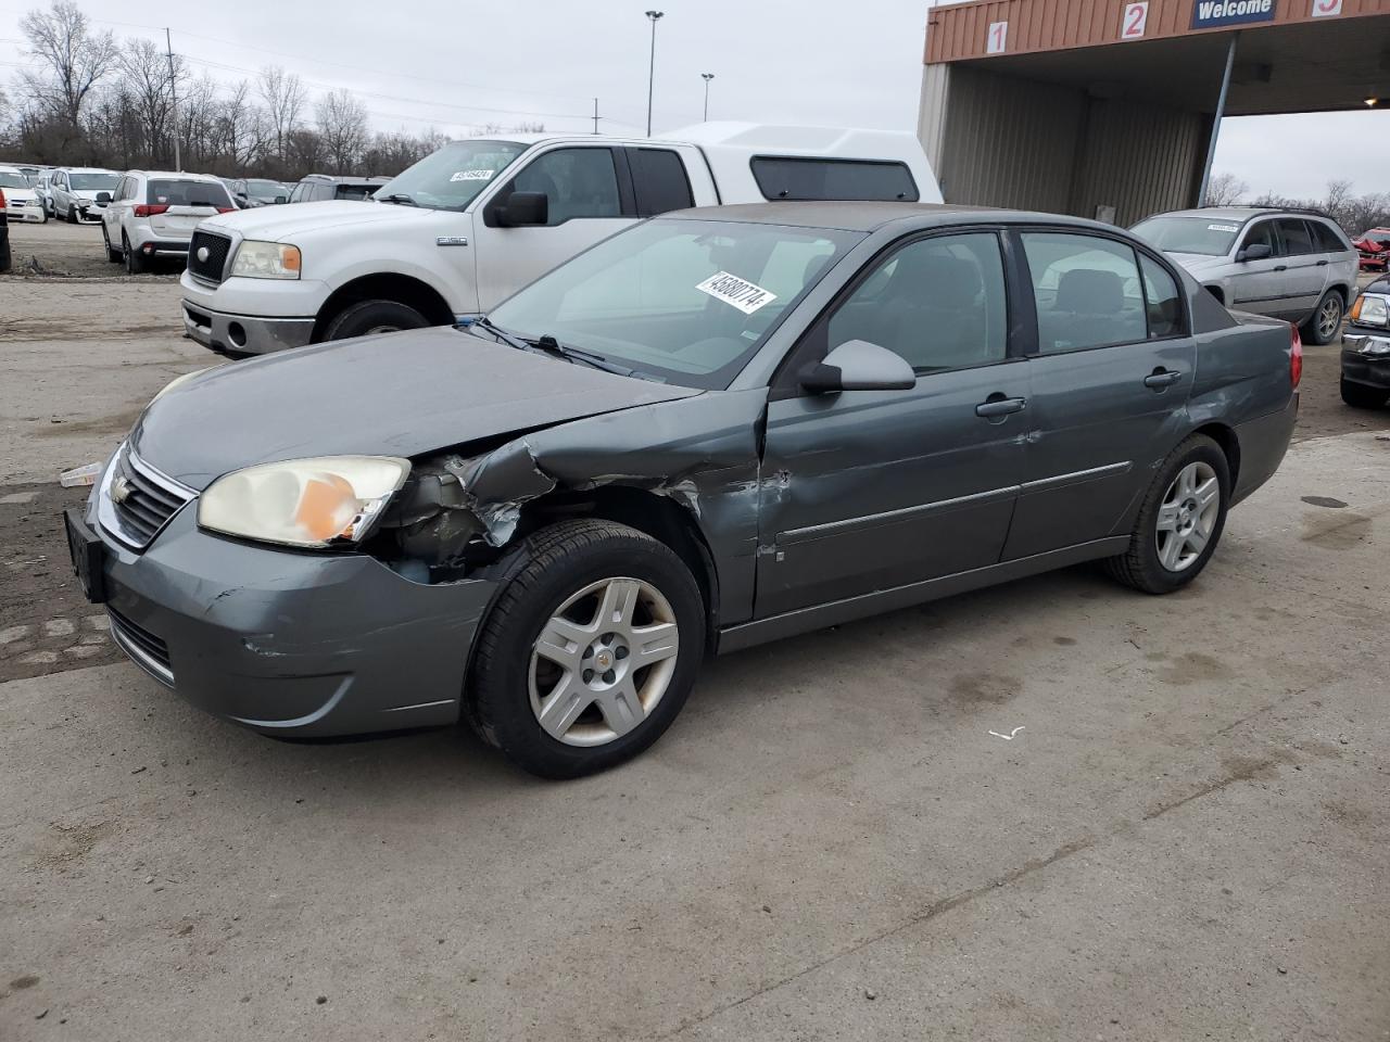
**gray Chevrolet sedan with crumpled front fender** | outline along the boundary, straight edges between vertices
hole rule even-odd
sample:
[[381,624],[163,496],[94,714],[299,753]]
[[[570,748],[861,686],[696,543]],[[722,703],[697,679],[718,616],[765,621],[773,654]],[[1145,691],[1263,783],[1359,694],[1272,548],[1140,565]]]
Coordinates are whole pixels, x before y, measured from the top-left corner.
[[117,642],[208,711],[463,718],[573,777],[655,742],[710,653],[1079,561],[1184,586],[1300,365],[1098,224],[692,210],[466,328],[181,378],[67,522]]

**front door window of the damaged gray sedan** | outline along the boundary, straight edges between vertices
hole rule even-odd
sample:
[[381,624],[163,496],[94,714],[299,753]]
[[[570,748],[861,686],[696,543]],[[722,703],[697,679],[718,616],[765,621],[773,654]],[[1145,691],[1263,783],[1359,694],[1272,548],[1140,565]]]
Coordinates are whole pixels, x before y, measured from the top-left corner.
[[869,340],[917,372],[1002,361],[1008,353],[1004,261],[992,232],[909,243],[831,315],[827,347]]

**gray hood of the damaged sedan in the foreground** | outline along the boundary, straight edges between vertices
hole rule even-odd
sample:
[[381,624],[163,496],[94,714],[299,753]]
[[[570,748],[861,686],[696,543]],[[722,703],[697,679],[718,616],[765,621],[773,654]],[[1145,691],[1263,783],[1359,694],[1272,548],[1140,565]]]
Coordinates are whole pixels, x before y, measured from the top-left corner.
[[256,463],[414,457],[699,393],[436,326],[207,370],[150,403],[131,445],[202,490]]

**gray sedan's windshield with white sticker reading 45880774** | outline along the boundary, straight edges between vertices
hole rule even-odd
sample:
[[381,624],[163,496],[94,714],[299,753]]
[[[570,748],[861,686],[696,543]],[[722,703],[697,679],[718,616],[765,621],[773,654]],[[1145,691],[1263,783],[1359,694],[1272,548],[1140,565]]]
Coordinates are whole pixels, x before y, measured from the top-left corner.
[[488,318],[641,374],[727,388],[763,338],[863,236],[826,228],[656,220],[532,282]]

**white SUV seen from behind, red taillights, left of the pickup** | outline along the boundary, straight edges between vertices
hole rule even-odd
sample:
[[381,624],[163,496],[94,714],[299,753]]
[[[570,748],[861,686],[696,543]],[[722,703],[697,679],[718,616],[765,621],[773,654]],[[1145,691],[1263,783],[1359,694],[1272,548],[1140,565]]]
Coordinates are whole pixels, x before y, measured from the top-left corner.
[[132,169],[121,175],[101,215],[106,258],[124,260],[125,270],[139,275],[156,257],[186,257],[197,222],[235,208],[214,176]]

